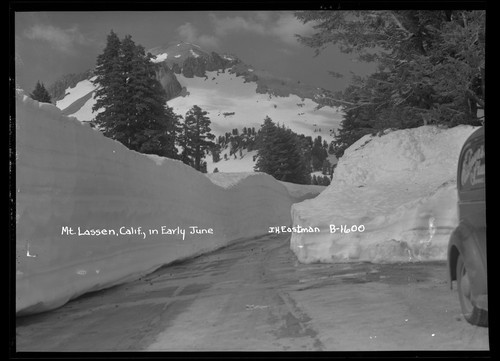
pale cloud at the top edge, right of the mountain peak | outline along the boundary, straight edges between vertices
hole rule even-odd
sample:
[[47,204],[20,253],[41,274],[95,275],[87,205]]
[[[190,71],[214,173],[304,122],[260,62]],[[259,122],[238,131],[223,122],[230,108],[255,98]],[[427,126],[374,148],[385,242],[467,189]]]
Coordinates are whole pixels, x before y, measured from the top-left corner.
[[297,45],[295,34],[310,35],[312,25],[304,24],[292,12],[253,12],[249,16],[219,17],[210,14],[214,32],[219,37],[236,32],[247,32],[261,36],[272,36],[288,45]]

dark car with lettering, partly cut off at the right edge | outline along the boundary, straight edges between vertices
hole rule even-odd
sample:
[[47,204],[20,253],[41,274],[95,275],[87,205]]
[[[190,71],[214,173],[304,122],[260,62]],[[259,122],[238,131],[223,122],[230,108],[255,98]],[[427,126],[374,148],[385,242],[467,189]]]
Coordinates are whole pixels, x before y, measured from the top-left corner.
[[448,244],[450,287],[457,290],[465,319],[488,325],[486,184],[484,128],[472,133],[460,152],[457,172],[458,226]]

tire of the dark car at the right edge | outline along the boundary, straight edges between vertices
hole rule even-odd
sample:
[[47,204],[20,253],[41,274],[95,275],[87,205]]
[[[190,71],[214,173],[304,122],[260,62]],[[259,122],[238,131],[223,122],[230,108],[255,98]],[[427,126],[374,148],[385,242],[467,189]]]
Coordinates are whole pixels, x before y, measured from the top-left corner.
[[457,289],[462,314],[470,324],[487,327],[488,311],[477,308],[472,304],[469,282],[467,267],[462,255],[459,255],[457,260]]

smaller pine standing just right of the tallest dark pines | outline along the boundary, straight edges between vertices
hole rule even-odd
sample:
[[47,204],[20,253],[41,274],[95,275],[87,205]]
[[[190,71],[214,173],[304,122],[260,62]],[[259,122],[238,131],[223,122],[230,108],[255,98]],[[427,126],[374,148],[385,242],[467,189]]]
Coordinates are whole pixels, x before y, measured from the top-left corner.
[[183,148],[182,161],[196,170],[202,170],[201,160],[208,150],[215,146],[211,133],[210,118],[207,112],[194,105],[187,113],[180,135],[180,145]]

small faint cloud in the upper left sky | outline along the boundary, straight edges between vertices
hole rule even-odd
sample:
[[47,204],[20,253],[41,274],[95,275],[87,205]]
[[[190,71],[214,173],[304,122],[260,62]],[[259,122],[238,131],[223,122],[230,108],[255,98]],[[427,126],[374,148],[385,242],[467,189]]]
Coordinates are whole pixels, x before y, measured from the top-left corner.
[[67,54],[74,53],[76,45],[90,43],[77,27],[64,30],[52,25],[33,25],[24,35],[30,40],[45,41],[54,49]]

